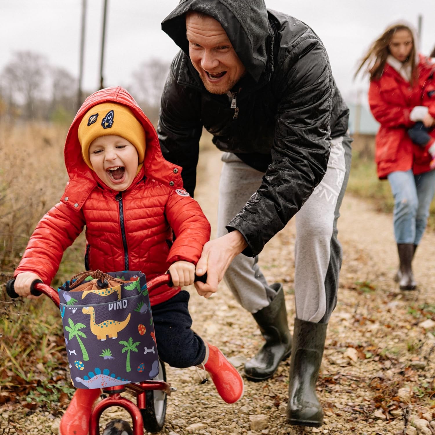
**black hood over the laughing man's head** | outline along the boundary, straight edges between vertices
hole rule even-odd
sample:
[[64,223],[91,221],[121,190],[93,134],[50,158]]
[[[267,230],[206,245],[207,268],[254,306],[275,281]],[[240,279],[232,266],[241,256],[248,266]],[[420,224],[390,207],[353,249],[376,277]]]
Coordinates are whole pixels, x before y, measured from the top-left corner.
[[161,26],[187,56],[185,14],[189,10],[205,13],[221,23],[244,67],[258,82],[266,66],[266,38],[270,33],[264,1],[181,0]]

